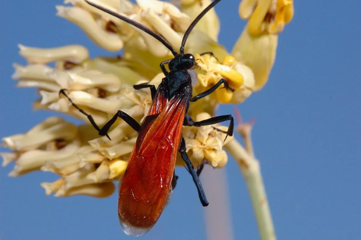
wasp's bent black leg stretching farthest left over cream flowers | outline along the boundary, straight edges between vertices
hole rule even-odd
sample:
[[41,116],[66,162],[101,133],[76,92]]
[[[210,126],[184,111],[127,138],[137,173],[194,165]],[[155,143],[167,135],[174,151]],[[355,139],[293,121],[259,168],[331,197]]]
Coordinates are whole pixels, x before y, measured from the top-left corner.
[[66,89],[61,89],[59,91],[59,95],[63,94],[66,98],[68,98],[69,102],[71,103],[71,105],[73,105],[75,108],[77,108],[82,114],[84,114],[85,116],[88,117],[88,120],[90,121],[91,125],[99,132],[99,135],[101,136],[106,136],[107,138],[110,139],[109,135],[108,135],[108,131],[110,129],[110,127],[115,123],[115,121],[117,120],[118,117],[120,117],[121,119],[123,119],[127,124],[129,124],[129,126],[131,126],[134,130],[136,130],[137,132],[139,132],[140,130],[140,125],[137,121],[135,121],[131,116],[129,116],[128,114],[126,114],[123,111],[118,111],[113,117],[112,119],[110,119],[108,121],[108,123],[106,123],[102,128],[99,128],[99,126],[95,123],[93,117],[90,114],[87,114],[86,112],[84,112],[81,108],[79,108],[69,97],[68,95],[66,95],[65,93]]

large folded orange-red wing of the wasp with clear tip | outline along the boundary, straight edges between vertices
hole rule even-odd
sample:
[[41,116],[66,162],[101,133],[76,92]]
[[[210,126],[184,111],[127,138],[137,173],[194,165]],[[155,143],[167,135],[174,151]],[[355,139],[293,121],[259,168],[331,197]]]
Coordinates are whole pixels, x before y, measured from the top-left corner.
[[158,221],[171,195],[187,98],[173,97],[158,116],[147,116],[130,155],[118,199],[127,235],[142,236]]

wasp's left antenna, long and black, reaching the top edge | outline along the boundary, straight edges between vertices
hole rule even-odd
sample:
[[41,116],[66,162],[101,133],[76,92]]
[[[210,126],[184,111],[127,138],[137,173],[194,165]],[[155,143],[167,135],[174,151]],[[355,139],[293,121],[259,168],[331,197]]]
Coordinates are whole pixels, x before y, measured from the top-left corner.
[[137,28],[139,28],[140,30],[146,32],[147,34],[153,36],[155,39],[157,39],[158,41],[160,41],[164,46],[166,46],[166,48],[168,48],[168,49],[173,53],[174,56],[175,56],[175,55],[178,55],[177,51],[172,48],[172,46],[168,43],[167,40],[165,40],[164,37],[162,37],[161,35],[157,34],[156,32],[153,32],[152,30],[150,30],[149,28],[145,27],[144,25],[142,25],[142,24],[140,24],[140,23],[138,23],[138,22],[136,22],[136,21],[134,21],[134,20],[132,20],[132,19],[130,19],[130,18],[124,17],[124,16],[122,16],[122,15],[120,15],[120,14],[118,14],[118,13],[112,12],[112,11],[110,11],[109,9],[103,8],[102,6],[99,6],[99,5],[97,5],[97,4],[94,4],[94,3],[92,3],[92,2],[90,2],[90,1],[88,1],[88,0],[85,0],[85,1],[87,2],[87,4],[93,6],[93,7],[97,8],[97,9],[100,9],[100,10],[102,10],[102,11],[105,12],[105,13],[108,13],[108,14],[110,14],[110,15],[113,15],[114,17],[119,18],[119,19],[123,20],[124,22],[127,22],[127,23],[133,25],[134,27],[137,27]]

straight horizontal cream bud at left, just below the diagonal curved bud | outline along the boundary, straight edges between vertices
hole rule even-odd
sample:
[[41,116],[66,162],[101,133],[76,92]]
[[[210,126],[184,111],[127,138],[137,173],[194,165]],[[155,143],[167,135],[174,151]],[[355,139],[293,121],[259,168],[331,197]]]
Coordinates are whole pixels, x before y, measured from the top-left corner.
[[88,50],[81,45],[68,45],[58,48],[32,48],[18,44],[19,54],[29,63],[45,64],[54,61],[81,63],[89,57]]

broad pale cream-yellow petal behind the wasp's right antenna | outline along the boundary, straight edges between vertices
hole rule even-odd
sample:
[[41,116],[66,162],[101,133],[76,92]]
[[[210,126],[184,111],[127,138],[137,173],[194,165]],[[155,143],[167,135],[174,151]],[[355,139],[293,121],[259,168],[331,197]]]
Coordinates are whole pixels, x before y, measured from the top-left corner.
[[[210,0],[180,0],[182,12],[189,15],[191,19],[195,19],[211,2]],[[200,19],[195,28],[208,34],[214,41],[218,41],[219,19],[214,8]]]

